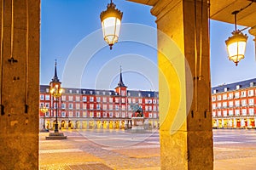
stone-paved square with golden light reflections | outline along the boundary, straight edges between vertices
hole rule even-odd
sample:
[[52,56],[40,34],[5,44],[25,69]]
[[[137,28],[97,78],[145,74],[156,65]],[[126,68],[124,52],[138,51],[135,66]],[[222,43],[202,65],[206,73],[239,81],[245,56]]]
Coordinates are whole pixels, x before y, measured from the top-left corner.
[[[67,139],[40,133],[40,169],[160,169],[159,133],[65,130]],[[251,170],[256,165],[255,130],[213,130],[214,169]]]

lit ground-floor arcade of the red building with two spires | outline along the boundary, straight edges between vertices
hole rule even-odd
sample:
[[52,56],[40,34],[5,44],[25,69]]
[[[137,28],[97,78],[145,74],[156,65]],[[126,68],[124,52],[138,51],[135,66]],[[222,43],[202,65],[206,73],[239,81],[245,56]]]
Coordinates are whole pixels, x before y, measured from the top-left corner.
[[[55,127],[55,118],[40,117],[39,128],[51,130]],[[131,127],[131,119],[67,119],[59,118],[61,129],[127,129]],[[159,128],[158,119],[144,119],[145,129]]]

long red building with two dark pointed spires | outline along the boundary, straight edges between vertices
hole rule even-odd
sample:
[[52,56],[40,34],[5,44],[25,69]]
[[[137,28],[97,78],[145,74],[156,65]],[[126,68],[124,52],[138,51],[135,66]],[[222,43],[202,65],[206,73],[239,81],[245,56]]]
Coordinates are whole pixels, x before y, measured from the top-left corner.
[[[56,69],[55,77],[57,79]],[[53,128],[57,111],[61,128],[127,128],[134,114],[131,105],[143,109],[146,128],[157,128],[159,122],[159,93],[153,91],[127,90],[122,72],[114,90],[63,88],[61,98],[50,94],[49,85],[40,86],[40,107],[48,111],[40,113],[40,128]],[[57,110],[56,110],[57,109]]]

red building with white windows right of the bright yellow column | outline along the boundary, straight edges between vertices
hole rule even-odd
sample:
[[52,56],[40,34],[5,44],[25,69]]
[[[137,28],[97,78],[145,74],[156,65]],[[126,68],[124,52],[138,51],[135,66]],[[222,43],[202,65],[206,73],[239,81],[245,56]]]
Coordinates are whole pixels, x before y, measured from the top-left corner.
[[212,88],[212,125],[255,128],[256,78]]

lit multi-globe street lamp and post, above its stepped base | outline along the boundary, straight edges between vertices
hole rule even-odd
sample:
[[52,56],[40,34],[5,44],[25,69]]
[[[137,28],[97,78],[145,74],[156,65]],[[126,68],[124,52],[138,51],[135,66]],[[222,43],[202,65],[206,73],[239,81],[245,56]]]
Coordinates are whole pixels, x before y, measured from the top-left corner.
[[53,88],[50,89],[50,94],[55,97],[56,100],[56,113],[55,113],[55,133],[59,133],[58,128],[58,107],[59,107],[59,98],[61,97],[62,88],[60,84],[55,84]]

